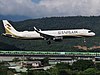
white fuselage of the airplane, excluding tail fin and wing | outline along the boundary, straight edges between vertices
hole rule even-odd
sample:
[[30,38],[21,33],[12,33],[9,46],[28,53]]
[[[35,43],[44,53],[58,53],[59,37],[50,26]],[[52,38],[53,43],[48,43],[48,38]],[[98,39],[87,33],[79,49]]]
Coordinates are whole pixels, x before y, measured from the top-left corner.
[[[41,33],[52,35],[55,37],[82,37],[82,36],[94,36],[94,32],[89,32],[87,29],[74,29],[74,30],[49,30],[49,31],[41,31]],[[36,39],[36,38],[44,38],[36,31],[23,31],[23,32],[15,32],[13,33],[17,36],[17,38],[26,38],[26,39]]]

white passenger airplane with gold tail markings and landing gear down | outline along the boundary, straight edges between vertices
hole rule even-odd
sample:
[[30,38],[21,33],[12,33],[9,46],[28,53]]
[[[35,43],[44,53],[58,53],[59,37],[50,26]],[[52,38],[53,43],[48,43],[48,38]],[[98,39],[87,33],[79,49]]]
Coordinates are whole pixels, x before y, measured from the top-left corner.
[[7,20],[3,20],[5,28],[4,36],[17,39],[44,39],[50,44],[50,40],[63,40],[67,37],[91,37],[95,33],[89,29],[71,29],[71,30],[45,30],[37,29],[34,31],[17,31]]

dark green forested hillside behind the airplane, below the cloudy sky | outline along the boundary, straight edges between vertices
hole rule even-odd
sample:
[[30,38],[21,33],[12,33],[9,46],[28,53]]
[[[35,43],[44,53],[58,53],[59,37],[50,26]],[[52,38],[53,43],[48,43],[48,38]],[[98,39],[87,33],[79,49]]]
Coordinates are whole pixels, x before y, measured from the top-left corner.
[[[0,35],[1,50],[87,51],[75,48],[74,46],[100,46],[100,16],[51,17],[9,22],[18,31],[32,31],[34,30],[34,26],[42,30],[87,28],[94,31],[96,36],[86,38],[86,42],[84,42],[84,38],[68,38],[64,39],[62,42],[52,41],[52,44],[48,45],[44,40],[19,40]],[[0,34],[3,32],[4,28],[2,21],[0,21]],[[91,49],[89,51],[99,51],[99,48]]]

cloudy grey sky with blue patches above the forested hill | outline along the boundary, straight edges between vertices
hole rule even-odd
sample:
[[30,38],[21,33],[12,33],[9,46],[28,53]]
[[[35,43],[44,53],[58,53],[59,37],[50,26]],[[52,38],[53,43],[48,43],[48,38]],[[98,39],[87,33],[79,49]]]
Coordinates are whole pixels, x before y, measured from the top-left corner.
[[100,0],[0,0],[0,15],[98,16]]

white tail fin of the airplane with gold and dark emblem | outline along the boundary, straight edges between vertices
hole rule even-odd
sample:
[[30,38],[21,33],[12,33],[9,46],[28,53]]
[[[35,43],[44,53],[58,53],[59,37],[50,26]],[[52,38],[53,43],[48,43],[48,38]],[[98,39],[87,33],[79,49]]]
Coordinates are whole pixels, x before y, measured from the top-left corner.
[[11,33],[17,32],[7,20],[3,20],[3,25],[6,32],[5,34],[11,34]]

